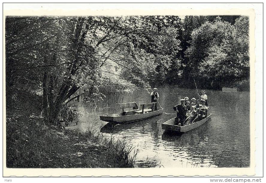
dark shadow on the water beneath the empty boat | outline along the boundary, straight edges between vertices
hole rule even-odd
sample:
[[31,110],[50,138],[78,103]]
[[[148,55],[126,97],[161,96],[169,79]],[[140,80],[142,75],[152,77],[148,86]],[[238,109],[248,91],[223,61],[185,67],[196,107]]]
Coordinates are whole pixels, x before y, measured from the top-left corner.
[[149,118],[146,120],[140,120],[136,122],[131,122],[127,124],[119,124],[114,122],[109,122],[105,124],[101,129],[100,132],[102,133],[117,133],[123,130],[128,130],[135,127],[143,127],[145,124],[154,124],[161,118],[161,115]]

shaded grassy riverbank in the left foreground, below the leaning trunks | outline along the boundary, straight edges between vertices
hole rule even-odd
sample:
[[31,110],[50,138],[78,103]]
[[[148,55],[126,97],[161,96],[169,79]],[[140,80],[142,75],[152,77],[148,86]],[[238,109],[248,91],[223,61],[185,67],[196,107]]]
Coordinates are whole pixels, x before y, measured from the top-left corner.
[[[38,105],[25,104],[7,106],[8,168],[135,167],[137,150],[132,145],[91,129],[58,131],[41,115]],[[151,166],[155,164],[143,167]]]

